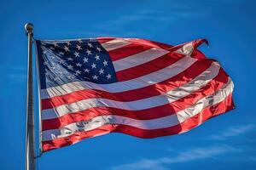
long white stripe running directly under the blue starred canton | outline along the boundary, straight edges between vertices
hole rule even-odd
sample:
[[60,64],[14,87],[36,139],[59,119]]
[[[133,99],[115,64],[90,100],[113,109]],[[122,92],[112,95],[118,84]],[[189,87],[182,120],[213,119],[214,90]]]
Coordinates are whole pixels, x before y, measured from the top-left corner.
[[124,82],[113,82],[111,84],[96,84],[93,82],[70,82],[61,86],[46,88],[41,90],[42,99],[47,99],[59,95],[70,94],[84,89],[97,89],[107,91],[109,93],[119,93],[137,88],[144,88],[158,82],[163,82],[166,79],[175,77],[182,71],[189,68],[197,61],[195,58],[186,56],[179,59],[176,63],[167,66],[159,71],[154,71],[143,77],[127,80]]

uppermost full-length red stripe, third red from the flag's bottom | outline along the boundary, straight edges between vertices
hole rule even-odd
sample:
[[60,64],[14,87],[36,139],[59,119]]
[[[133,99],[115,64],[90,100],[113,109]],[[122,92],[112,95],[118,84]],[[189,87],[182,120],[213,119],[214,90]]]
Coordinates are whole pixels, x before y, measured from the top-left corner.
[[205,71],[210,65],[212,65],[212,60],[210,59],[198,60],[187,70],[177,74],[175,77],[171,77],[166,81],[159,82],[145,88],[138,88],[126,92],[108,93],[102,90],[85,89],[73,92],[71,94],[55,96],[50,99],[42,99],[42,110],[54,108],[59,105],[71,104],[82,99],[105,98],[118,101],[132,101],[165,94],[173,88],[177,88],[178,86],[182,86],[183,84],[193,80],[195,77],[200,75],[201,72]]

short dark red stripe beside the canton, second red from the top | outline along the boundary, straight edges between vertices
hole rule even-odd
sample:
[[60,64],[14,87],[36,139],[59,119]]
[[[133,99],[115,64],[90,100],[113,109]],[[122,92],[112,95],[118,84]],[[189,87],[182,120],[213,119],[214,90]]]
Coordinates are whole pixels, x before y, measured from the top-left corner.
[[126,45],[125,47],[113,49],[113,50],[109,51],[108,54],[110,55],[110,58],[112,59],[112,61],[115,61],[118,59],[123,59],[125,57],[129,57],[134,54],[141,53],[150,48],[152,48],[152,47],[146,46],[146,45],[141,45],[141,44],[131,43],[131,44]]

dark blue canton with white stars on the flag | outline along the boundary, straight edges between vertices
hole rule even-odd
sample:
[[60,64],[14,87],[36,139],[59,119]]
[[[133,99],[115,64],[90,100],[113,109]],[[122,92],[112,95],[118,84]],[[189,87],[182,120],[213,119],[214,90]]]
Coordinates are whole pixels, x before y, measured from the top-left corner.
[[96,39],[36,41],[41,88],[68,82],[117,82],[112,60]]

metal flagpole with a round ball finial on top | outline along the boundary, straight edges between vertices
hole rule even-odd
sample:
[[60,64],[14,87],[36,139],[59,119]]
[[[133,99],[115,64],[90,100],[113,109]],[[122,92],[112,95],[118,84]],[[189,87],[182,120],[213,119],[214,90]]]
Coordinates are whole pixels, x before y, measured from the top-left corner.
[[32,30],[33,25],[26,23],[28,40],[27,55],[27,88],[26,88],[26,170],[36,169],[35,139],[34,139],[34,108],[33,108],[33,78],[32,78]]

